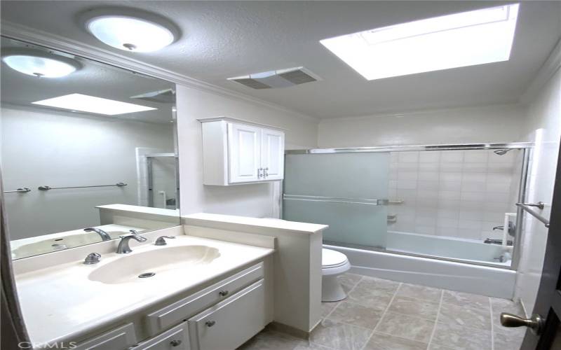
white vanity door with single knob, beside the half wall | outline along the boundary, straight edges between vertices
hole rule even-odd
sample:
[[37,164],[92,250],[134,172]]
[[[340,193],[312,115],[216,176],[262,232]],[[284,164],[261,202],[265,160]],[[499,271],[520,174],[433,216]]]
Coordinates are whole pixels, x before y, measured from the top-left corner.
[[263,280],[189,318],[192,350],[234,350],[266,325]]

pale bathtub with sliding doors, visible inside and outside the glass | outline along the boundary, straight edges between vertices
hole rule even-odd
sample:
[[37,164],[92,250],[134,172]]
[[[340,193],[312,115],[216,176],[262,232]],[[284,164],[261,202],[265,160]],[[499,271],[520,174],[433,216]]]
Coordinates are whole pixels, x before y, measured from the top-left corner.
[[[491,297],[513,297],[516,272],[505,268],[510,266],[510,261],[501,264],[506,265],[504,267],[474,264],[493,263],[493,258],[501,255],[504,249],[497,244],[407,232],[388,232],[388,250],[434,255],[438,258],[347,248],[333,244],[324,244],[324,247],[344,253],[352,265],[350,272],[357,274]],[[444,258],[463,261],[443,260]]]

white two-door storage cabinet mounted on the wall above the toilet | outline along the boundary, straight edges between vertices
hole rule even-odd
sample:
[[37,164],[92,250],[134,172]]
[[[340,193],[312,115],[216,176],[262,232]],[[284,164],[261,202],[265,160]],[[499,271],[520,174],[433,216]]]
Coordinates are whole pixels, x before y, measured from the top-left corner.
[[205,185],[282,180],[285,134],[229,118],[199,120],[203,127]]

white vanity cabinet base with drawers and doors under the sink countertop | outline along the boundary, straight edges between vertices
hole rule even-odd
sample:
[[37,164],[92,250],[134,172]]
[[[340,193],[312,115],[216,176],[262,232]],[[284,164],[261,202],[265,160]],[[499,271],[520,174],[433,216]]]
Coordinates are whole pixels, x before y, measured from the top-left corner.
[[264,262],[79,342],[78,350],[234,350],[272,320]]

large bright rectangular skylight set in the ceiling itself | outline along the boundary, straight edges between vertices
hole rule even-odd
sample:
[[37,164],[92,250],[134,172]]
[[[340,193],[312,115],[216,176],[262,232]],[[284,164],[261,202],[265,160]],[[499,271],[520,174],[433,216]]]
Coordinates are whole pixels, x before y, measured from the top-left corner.
[[321,40],[367,80],[508,61],[518,3]]

